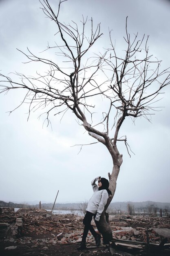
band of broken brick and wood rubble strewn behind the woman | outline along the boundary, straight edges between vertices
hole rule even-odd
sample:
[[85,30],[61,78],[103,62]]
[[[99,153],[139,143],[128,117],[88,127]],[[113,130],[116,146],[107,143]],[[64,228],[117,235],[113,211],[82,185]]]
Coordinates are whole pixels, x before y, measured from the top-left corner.
[[[0,213],[0,239],[4,243],[29,245],[36,248],[40,245],[69,245],[82,240],[83,217],[71,214],[52,215],[40,209],[2,209]],[[92,221],[95,230],[95,222]],[[170,218],[142,216],[110,216],[110,227],[116,244],[131,243],[134,247],[142,243],[159,245],[166,234],[166,243],[170,244]],[[91,233],[87,243],[95,245]],[[128,245],[129,246],[129,245]],[[132,246],[132,247],[133,247]]]

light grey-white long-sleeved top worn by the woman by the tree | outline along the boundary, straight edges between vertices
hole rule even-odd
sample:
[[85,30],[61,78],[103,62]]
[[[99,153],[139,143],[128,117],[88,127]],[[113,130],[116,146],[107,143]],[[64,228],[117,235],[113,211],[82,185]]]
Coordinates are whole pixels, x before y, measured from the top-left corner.
[[93,195],[88,202],[86,211],[90,211],[91,213],[97,213],[95,220],[99,221],[100,216],[104,210],[104,207],[108,200],[108,192],[106,189],[99,190],[97,184],[95,182],[98,180],[99,177],[96,177],[92,180],[91,185],[93,188]]

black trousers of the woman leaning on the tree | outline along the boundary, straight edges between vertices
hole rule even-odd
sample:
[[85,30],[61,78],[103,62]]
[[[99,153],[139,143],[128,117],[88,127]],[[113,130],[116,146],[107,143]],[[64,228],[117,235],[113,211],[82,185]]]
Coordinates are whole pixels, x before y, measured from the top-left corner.
[[82,236],[82,242],[86,243],[86,237],[88,235],[88,230],[91,231],[91,234],[96,237],[97,233],[95,229],[93,229],[93,226],[91,225],[92,218],[95,218],[96,213],[91,213],[90,211],[86,211],[86,215],[84,216],[83,219],[83,224],[84,224],[84,231],[83,231],[83,236]]

